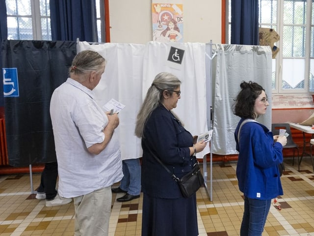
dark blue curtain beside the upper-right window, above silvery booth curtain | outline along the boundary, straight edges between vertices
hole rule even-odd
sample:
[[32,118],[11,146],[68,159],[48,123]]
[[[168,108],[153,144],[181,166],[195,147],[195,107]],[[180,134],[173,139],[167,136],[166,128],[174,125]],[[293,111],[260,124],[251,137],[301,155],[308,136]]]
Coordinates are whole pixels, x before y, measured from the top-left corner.
[[260,44],[258,0],[231,0],[231,44]]

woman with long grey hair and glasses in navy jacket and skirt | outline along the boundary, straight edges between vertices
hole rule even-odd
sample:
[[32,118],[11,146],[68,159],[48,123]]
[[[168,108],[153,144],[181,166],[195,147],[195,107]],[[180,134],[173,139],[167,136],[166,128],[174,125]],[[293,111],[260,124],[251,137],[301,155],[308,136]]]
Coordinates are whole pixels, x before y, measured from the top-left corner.
[[198,235],[196,194],[184,198],[152,154],[181,178],[191,171],[196,152],[207,145],[204,141],[193,145],[193,136],[172,112],[181,98],[180,84],[173,74],[157,74],[137,115],[135,135],[142,139],[143,149],[142,236]]

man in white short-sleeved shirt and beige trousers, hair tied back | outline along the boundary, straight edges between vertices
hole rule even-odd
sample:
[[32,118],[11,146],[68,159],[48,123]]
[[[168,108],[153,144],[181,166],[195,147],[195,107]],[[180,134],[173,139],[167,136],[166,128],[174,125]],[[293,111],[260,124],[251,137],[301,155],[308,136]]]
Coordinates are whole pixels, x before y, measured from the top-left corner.
[[111,185],[122,179],[115,128],[117,114],[96,103],[93,89],[101,80],[105,59],[82,51],[73,59],[70,78],[52,93],[50,114],[58,162],[58,193],[74,198],[75,236],[107,236]]

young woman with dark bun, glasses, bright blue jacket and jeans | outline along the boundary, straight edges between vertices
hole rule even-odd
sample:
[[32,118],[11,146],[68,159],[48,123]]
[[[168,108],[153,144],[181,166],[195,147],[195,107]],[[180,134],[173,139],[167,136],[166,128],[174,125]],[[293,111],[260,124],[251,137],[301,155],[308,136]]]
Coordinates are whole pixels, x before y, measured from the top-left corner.
[[[278,164],[283,162],[286,136],[273,136],[259,122],[247,122],[264,115],[269,106],[265,90],[255,82],[242,82],[236,96],[233,112],[240,117],[235,129],[238,186],[244,194],[244,213],[240,236],[261,236],[270,209],[271,200],[283,195]],[[274,142],[275,141],[275,142]]]

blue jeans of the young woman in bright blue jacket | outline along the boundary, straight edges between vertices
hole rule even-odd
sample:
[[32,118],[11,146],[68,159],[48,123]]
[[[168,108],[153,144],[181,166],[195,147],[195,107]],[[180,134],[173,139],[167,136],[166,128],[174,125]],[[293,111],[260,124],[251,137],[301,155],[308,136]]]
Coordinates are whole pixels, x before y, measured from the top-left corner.
[[262,236],[270,204],[271,199],[259,200],[244,196],[244,213],[240,236]]

